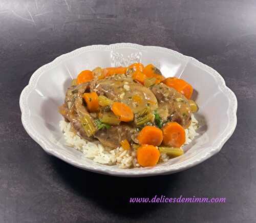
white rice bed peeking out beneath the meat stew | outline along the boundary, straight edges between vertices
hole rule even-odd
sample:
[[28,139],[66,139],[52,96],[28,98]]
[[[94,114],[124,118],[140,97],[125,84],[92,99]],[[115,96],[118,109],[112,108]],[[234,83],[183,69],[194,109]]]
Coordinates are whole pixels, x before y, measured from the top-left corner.
[[[98,141],[88,142],[81,139],[73,131],[71,131],[71,124],[61,120],[59,122],[60,130],[63,132],[66,140],[66,145],[73,147],[84,154],[84,157],[93,160],[94,162],[105,165],[117,165],[120,168],[133,168],[140,165],[136,159],[136,151],[124,150],[122,147],[116,149],[105,149]],[[192,115],[192,122],[190,126],[185,129],[186,142],[190,143],[197,135],[196,129],[198,128],[198,121]],[[160,162],[166,162],[169,157],[165,153],[160,154]]]

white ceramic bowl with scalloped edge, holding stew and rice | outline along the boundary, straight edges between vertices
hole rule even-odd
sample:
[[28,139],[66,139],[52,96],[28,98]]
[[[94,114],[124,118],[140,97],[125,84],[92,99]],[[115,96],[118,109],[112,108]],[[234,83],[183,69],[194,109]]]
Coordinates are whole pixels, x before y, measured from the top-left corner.
[[[58,125],[62,119],[58,106],[71,79],[96,66],[127,66],[136,61],[153,63],[165,77],[182,78],[195,88],[200,135],[185,146],[185,154],[153,168],[120,169],[94,163],[65,146]],[[170,174],[193,167],[219,152],[237,124],[237,98],[218,72],[176,51],[132,43],[82,47],[57,57],[31,76],[19,104],[24,128],[47,153],[82,169],[118,176]]]

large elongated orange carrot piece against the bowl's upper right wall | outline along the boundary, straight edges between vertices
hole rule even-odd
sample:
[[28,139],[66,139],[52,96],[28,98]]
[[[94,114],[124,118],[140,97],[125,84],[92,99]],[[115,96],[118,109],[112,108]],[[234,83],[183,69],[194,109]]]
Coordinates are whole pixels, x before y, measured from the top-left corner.
[[180,92],[187,99],[190,99],[191,95],[193,94],[193,87],[182,79],[176,77],[169,77],[166,78],[163,83],[169,87],[173,87],[176,91]]

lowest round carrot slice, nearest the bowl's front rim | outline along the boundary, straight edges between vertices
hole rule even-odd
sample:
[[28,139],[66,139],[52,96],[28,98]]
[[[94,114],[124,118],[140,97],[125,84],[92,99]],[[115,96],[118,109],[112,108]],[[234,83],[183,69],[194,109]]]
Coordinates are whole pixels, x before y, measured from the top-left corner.
[[142,145],[137,149],[138,163],[143,167],[155,166],[160,158],[157,147],[152,145]]

